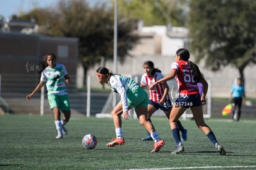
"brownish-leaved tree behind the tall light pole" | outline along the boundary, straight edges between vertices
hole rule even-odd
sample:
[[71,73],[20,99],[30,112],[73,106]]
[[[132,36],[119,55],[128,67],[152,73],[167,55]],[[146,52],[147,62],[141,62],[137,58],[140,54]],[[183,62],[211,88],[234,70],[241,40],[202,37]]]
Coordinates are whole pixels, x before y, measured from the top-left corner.
[[[43,35],[79,38],[79,59],[85,74],[102,57],[113,59],[114,10],[104,3],[90,7],[83,0],[59,1],[57,7],[33,9],[20,17],[29,18],[40,25]],[[121,62],[139,40],[133,32],[136,26],[134,20],[119,18],[117,56]]]

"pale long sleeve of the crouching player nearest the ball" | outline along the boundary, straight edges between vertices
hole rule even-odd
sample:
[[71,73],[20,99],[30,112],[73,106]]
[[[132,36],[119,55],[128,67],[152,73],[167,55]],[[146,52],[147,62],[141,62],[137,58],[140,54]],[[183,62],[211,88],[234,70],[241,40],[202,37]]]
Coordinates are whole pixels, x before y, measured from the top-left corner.
[[109,79],[109,83],[114,90],[119,93],[121,101],[122,101],[122,110],[123,111],[128,111],[128,99],[127,99],[127,94],[126,94],[126,89],[121,83],[120,79],[116,79],[114,76],[111,76]]

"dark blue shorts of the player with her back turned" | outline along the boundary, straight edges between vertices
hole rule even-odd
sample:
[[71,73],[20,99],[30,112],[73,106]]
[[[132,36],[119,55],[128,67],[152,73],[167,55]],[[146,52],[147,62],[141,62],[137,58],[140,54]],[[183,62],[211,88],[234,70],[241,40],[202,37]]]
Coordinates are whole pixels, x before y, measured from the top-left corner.
[[173,103],[173,106],[181,106],[182,108],[190,108],[195,106],[201,106],[201,96],[200,94],[179,96]]

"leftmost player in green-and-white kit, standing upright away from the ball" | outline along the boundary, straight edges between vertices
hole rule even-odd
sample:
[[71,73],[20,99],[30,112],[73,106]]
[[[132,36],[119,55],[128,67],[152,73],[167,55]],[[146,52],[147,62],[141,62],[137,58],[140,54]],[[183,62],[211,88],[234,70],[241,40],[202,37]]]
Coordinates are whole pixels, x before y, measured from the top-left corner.
[[[29,100],[38,92],[45,84],[48,90],[48,101],[50,109],[54,113],[54,121],[58,135],[56,138],[62,138],[63,134],[67,135],[67,129],[64,125],[70,119],[70,105],[69,97],[67,95],[66,83],[70,83],[67,69],[63,64],[56,63],[56,56],[54,53],[48,53],[45,56],[46,66],[41,70],[40,82],[26,98]],[[64,114],[61,120],[61,111]]]

